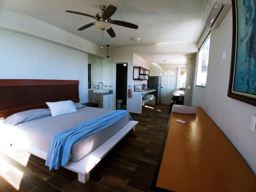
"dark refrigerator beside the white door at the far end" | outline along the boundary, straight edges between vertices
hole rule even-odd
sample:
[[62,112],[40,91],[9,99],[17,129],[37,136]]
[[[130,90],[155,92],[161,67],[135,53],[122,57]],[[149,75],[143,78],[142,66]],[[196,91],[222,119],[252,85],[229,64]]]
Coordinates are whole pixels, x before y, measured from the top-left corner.
[[154,96],[156,97],[156,104],[160,103],[161,80],[162,80],[162,76],[149,76],[148,77],[147,88],[156,90],[155,92],[150,93],[150,94],[154,94]]

